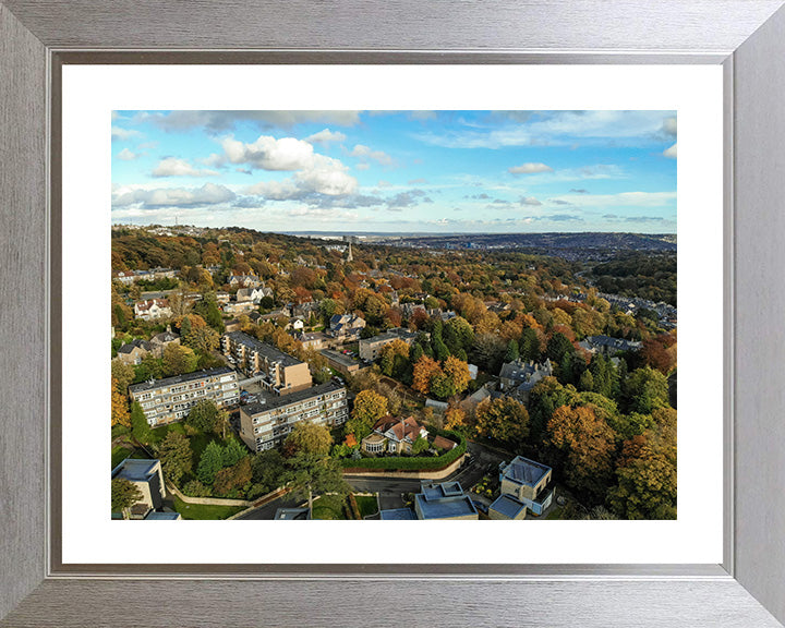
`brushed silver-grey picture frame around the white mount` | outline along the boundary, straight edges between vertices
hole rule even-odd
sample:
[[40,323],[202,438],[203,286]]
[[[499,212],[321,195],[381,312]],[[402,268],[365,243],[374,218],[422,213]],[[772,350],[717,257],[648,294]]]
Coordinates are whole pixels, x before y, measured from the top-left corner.
[[[1,626],[780,626],[785,620],[782,0],[423,7],[0,0]],[[65,63],[712,63],[725,74],[722,565],[67,566],[59,560]],[[771,269],[770,277],[763,269]],[[25,281],[20,281],[26,277]],[[717,388],[720,383],[717,383]],[[709,394],[716,394],[714,390]],[[52,421],[55,418],[55,421]],[[56,426],[56,425],[55,425]],[[403,608],[400,601],[407,600]]]

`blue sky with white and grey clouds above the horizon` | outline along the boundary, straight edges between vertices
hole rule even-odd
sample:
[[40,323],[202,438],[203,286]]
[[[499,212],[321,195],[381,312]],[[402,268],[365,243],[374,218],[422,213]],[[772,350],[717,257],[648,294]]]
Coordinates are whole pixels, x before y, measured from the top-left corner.
[[116,111],[112,222],[676,231],[674,111]]

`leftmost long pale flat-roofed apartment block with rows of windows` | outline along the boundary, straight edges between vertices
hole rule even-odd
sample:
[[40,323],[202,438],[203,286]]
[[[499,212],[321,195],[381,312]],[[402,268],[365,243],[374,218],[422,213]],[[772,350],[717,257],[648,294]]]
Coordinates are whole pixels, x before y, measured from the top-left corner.
[[237,372],[228,366],[134,384],[129,386],[129,395],[142,406],[153,427],[180,421],[204,399],[212,399],[218,408],[240,402]]

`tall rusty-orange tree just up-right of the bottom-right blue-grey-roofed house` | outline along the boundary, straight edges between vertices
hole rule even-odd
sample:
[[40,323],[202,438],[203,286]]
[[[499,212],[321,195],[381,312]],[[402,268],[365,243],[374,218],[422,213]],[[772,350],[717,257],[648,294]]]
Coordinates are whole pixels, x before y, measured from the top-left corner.
[[564,458],[564,473],[576,491],[603,496],[613,473],[614,433],[591,406],[557,408],[547,423],[548,443]]

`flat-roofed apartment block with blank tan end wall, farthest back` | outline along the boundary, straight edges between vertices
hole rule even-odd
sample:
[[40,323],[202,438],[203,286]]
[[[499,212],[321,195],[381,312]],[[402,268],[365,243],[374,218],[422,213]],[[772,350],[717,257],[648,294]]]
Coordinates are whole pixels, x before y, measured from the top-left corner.
[[235,361],[238,369],[256,378],[270,392],[290,395],[310,388],[313,383],[307,362],[301,362],[273,345],[259,342],[244,331],[225,334],[221,349]]

